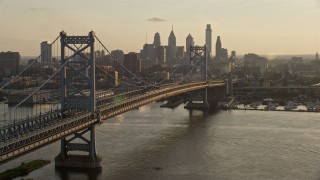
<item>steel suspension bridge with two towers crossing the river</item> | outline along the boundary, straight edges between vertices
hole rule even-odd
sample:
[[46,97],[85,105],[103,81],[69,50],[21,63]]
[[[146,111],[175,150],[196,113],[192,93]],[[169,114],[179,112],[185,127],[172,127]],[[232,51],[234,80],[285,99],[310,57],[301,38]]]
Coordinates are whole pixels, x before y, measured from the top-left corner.
[[[54,47],[59,54],[56,56],[59,61],[56,71],[48,75],[38,87],[28,91],[27,96],[0,117],[0,164],[60,140],[61,151],[55,158],[56,166],[100,167],[101,157],[95,146],[96,124],[148,103],[177,95],[186,97],[185,107],[190,110],[208,109],[224,96],[224,81],[208,79],[205,46],[191,46],[189,72],[178,81],[165,83],[164,80],[148,82],[129,71],[94,32],[87,36],[68,36],[61,32],[53,44],[58,44]],[[112,92],[98,91],[96,71],[115,77],[96,64],[96,47],[108,52],[114,63],[139,81],[139,85],[119,78],[121,85],[126,88]],[[0,89],[22,76],[39,58],[40,56]],[[21,112],[19,107],[43,90],[52,79],[60,81],[60,107],[45,110],[40,108],[37,113],[31,114]],[[86,154],[72,154],[72,151]]]

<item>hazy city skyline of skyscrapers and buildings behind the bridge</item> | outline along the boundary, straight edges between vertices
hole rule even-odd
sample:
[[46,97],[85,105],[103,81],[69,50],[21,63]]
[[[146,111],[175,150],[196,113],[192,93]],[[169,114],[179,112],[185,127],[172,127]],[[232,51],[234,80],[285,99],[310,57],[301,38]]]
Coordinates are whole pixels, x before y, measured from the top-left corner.
[[[228,51],[223,46],[222,37],[217,35],[213,36],[212,26],[206,25],[205,33],[205,46],[206,58],[208,66],[208,75],[213,78],[232,79],[232,76],[247,75],[248,77],[262,77],[270,74],[271,67],[270,61],[266,57],[249,53],[242,57],[237,57],[236,51]],[[212,39],[216,38],[215,47]],[[102,68],[105,73],[97,71],[98,82],[101,84],[109,84],[110,86],[120,85],[119,79],[130,79],[131,74],[137,74],[141,77],[148,77],[153,80],[162,80],[172,78],[169,72],[174,68],[179,67],[179,70],[174,78],[180,78],[183,74],[190,71],[190,57],[193,57],[193,52],[190,50],[191,46],[196,46],[195,40],[191,33],[185,38],[184,45],[177,44],[177,38],[172,27],[169,37],[166,42],[162,43],[159,32],[156,32],[153,37],[152,43],[145,43],[140,52],[124,53],[121,49],[116,49],[107,54],[104,50],[96,50],[94,52],[95,63]],[[27,65],[31,63],[29,74],[38,74],[43,77],[56,71],[60,66],[58,63],[59,54],[53,54],[54,47],[49,41],[40,43],[41,56],[40,59],[30,59]],[[82,56],[76,56],[76,61],[86,61],[89,53],[85,52]],[[320,59],[318,53],[313,56],[312,68],[318,72],[320,68]],[[308,68],[302,57],[290,57],[286,64],[277,67],[279,71],[285,71],[289,74],[310,74]],[[319,68],[318,68],[319,67]],[[19,52],[1,52],[0,53],[0,78],[14,76],[22,69],[21,58]],[[178,69],[178,68],[177,68]],[[129,72],[128,72],[129,71]],[[320,72],[320,71],[319,71]],[[28,74],[28,72],[27,72]],[[266,79],[266,78],[265,78]],[[273,84],[273,82],[265,80],[265,84]],[[271,83],[269,83],[271,82]],[[290,81],[286,81],[290,84]]]

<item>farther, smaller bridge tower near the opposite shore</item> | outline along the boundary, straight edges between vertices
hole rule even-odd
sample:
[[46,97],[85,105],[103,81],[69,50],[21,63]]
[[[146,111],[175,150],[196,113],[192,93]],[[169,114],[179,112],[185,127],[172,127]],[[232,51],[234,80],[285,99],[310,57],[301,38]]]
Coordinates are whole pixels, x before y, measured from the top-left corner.
[[[190,81],[208,82],[207,47],[190,46]],[[186,109],[208,110],[208,88],[187,93]]]

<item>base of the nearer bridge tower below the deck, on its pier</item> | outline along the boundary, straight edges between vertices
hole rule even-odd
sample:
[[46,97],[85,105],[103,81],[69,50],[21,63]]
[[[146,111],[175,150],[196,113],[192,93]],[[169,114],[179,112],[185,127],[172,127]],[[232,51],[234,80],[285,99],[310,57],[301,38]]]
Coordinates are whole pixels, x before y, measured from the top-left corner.
[[[84,137],[89,132],[90,138]],[[84,143],[72,143],[73,140],[80,139]],[[88,154],[69,154],[70,151],[83,151]],[[70,139],[61,140],[61,152],[54,159],[56,167],[76,167],[76,168],[100,168],[101,157],[96,152],[95,127],[92,126],[82,132],[74,134]]]

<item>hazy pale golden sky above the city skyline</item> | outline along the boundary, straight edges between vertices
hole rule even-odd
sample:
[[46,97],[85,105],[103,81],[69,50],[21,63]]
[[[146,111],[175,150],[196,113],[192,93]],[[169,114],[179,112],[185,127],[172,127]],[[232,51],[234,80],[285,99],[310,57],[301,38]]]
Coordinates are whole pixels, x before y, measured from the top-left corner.
[[206,24],[239,54],[320,53],[320,0],[0,0],[0,51],[38,55],[61,30],[94,30],[110,50],[139,52],[156,32],[166,45],[172,25],[177,45],[189,33],[203,45]]

